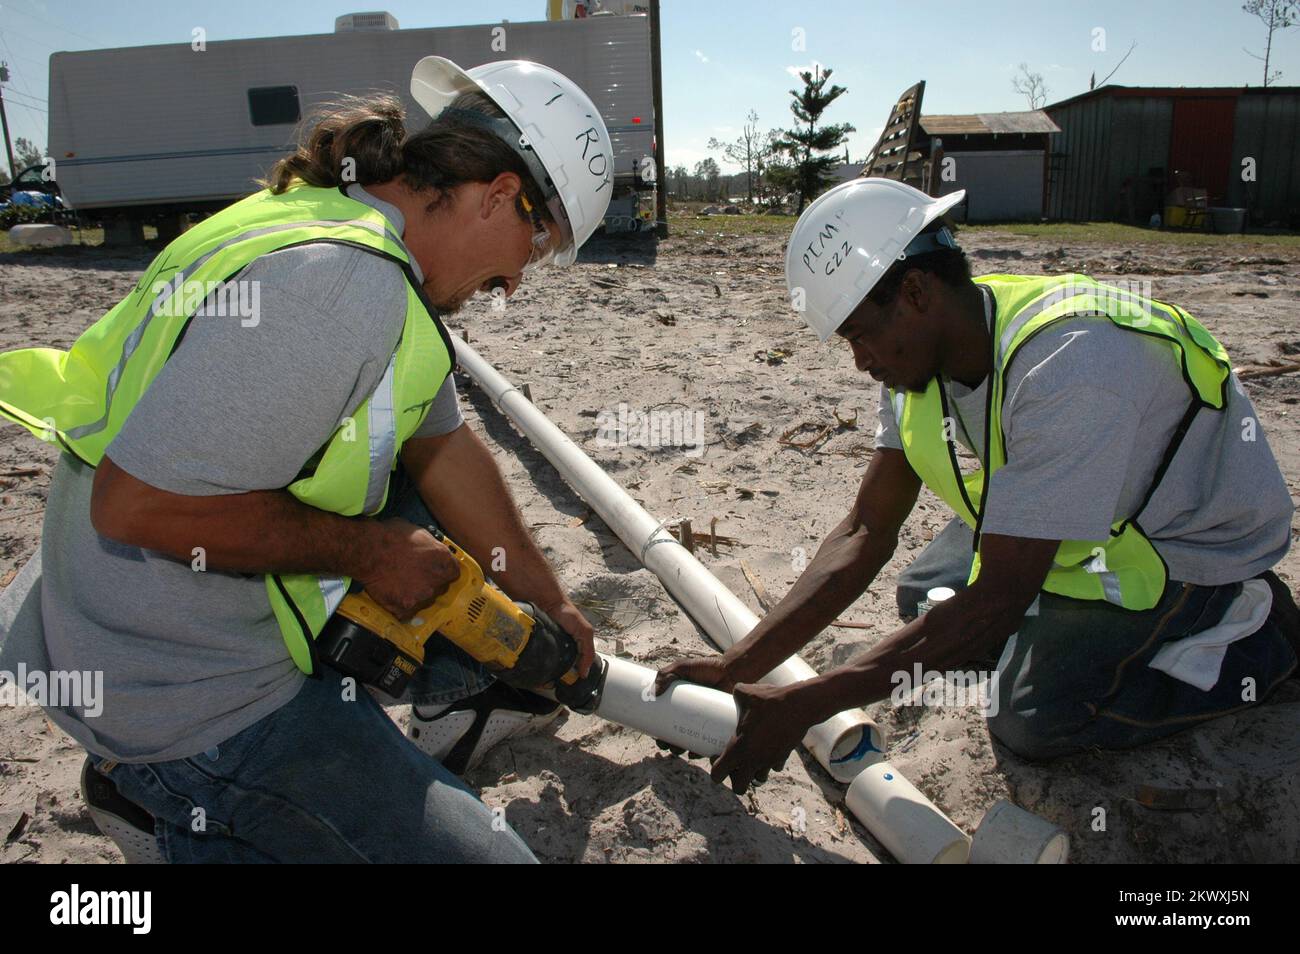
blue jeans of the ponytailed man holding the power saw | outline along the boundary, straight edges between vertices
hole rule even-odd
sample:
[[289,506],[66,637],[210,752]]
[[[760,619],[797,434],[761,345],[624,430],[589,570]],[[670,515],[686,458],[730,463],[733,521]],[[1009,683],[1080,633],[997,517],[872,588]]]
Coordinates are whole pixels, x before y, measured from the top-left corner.
[[[382,516],[433,522],[400,469]],[[452,702],[491,684],[442,637],[428,649],[403,701]],[[503,816],[403,737],[369,691],[344,693],[328,667],[318,676],[292,702],[192,758],[92,758],[153,815],[173,863],[537,860]]]

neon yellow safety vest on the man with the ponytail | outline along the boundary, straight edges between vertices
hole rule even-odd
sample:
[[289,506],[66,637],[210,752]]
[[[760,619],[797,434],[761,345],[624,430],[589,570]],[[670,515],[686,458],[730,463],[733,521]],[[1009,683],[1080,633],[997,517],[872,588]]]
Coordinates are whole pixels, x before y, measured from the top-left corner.
[[[402,443],[428,415],[451,372],[451,338],[424,298],[393,225],[341,190],[257,192],[196,224],[150,264],[135,289],[69,351],[0,355],[0,416],[90,465],[121,430],[207,300],[188,289],[229,282],[248,264],[307,243],[339,243],[395,263],[407,277],[402,335],[374,391],[339,421],[286,490],[343,516],[374,515]],[[173,302],[176,295],[179,302]],[[211,318],[226,320],[226,318]],[[312,641],[347,593],[346,577],[268,574],[266,593],[290,655],[313,672]]]

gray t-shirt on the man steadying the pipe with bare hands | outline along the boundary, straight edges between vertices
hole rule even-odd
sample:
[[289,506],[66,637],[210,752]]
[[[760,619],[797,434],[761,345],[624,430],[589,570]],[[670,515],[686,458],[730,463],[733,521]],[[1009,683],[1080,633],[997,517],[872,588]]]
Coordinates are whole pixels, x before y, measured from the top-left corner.
[[[985,290],[987,316],[988,305]],[[957,441],[983,459],[988,381],[942,385]],[[1196,416],[1139,517],[1171,580],[1248,580],[1291,543],[1286,480],[1236,376],[1227,390],[1223,411]],[[1005,393],[1006,465],[989,481],[983,529],[1032,539],[1106,539],[1141,504],[1191,403],[1169,347],[1105,317],[1066,318],[1030,339]],[[884,387],[876,447],[902,448]]]

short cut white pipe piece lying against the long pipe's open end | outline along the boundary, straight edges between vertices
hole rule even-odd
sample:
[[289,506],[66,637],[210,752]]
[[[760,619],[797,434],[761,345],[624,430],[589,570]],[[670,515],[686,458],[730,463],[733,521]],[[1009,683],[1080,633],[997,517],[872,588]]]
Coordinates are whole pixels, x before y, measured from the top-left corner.
[[965,864],[971,840],[888,762],[867,766],[844,798],[904,864]]

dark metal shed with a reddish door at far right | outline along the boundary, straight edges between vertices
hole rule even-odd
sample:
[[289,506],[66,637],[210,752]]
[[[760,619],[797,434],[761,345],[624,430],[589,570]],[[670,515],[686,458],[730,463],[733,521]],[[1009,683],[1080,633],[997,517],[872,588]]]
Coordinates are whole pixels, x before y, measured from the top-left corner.
[[1187,185],[1254,225],[1300,227],[1300,87],[1104,86],[1045,112],[1061,127],[1050,218],[1145,224]]

